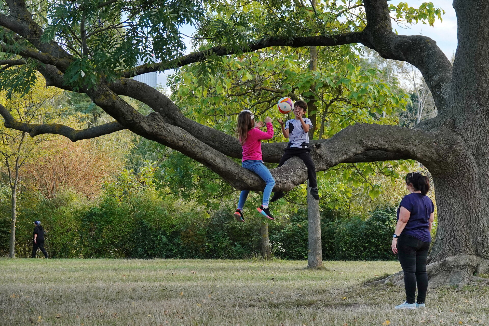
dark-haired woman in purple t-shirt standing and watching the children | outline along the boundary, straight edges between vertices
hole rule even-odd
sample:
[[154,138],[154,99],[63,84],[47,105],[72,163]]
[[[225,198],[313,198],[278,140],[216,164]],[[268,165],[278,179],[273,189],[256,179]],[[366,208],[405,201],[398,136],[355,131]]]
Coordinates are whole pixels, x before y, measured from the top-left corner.
[[[398,208],[398,222],[392,239],[392,252],[398,254],[404,272],[406,301],[396,305],[396,309],[424,308],[428,275],[426,259],[431,242],[431,227],[435,218],[435,205],[426,196],[429,179],[419,172],[406,175],[406,188],[409,195],[402,198]],[[416,297],[418,285],[418,298]]]

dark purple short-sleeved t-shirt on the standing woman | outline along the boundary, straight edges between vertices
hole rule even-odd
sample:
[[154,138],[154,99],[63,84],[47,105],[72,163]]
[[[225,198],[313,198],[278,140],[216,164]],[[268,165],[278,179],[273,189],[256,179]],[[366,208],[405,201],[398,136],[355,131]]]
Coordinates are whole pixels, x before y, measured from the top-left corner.
[[435,205],[433,205],[431,199],[419,193],[411,193],[404,196],[399,204],[398,220],[401,206],[411,212],[409,220],[401,234],[413,236],[423,242],[431,242],[429,216],[435,211]]

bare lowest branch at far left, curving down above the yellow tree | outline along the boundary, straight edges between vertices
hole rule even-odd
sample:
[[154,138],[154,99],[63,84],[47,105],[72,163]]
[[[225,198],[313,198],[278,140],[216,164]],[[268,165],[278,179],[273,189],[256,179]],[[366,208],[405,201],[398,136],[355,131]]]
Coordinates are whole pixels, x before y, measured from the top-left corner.
[[30,124],[30,123],[20,122],[15,120],[14,117],[10,114],[10,112],[7,109],[5,109],[5,107],[2,106],[1,104],[0,104],[0,115],[5,120],[4,126],[6,128],[27,132],[31,137],[35,137],[43,133],[62,135],[67,137],[72,142],[75,142],[77,140],[82,140],[82,139],[95,138],[115,131],[126,129],[123,126],[121,126],[117,121],[112,121],[104,125],[82,129],[82,130],[76,130],[71,127],[60,125],[60,124],[41,125],[41,124]]

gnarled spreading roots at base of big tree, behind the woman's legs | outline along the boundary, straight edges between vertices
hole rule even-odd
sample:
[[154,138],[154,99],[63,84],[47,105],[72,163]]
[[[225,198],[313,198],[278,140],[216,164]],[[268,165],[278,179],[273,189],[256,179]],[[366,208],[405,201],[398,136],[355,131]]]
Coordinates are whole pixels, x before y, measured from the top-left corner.
[[[457,255],[436,261],[426,266],[428,287],[463,286],[467,284],[489,284],[489,279],[479,277],[479,274],[489,272],[489,260],[474,255]],[[394,284],[404,285],[402,271],[392,274],[382,280],[366,283],[368,286]]]

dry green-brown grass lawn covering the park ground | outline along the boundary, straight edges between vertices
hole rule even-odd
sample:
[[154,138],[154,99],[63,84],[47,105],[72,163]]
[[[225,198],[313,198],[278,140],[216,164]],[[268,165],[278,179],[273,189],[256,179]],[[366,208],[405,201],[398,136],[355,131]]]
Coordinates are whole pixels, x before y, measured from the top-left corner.
[[[489,325],[489,287],[364,287],[395,261],[0,259],[0,326]],[[389,322],[387,322],[389,321]],[[383,323],[383,324],[382,324]]]

